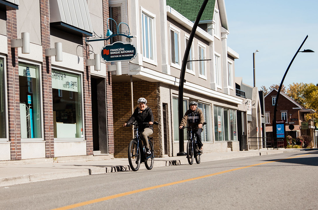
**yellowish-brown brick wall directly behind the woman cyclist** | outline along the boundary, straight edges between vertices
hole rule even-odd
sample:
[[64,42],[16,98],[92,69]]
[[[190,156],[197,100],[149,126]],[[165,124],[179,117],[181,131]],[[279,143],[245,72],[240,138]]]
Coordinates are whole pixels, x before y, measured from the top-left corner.
[[[147,105],[151,108],[154,120],[158,121],[157,83],[147,81],[133,82],[134,109],[140,97],[147,99]],[[128,144],[132,140],[132,127],[122,127],[132,115],[130,82],[113,83],[113,113],[114,113],[114,157],[127,158]],[[159,154],[158,126],[154,125],[155,155]]]

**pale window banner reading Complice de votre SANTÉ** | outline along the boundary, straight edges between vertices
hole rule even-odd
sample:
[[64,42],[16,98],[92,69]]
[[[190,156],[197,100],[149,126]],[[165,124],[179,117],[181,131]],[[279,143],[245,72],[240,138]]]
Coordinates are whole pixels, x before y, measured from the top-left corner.
[[77,76],[53,70],[52,88],[78,92]]

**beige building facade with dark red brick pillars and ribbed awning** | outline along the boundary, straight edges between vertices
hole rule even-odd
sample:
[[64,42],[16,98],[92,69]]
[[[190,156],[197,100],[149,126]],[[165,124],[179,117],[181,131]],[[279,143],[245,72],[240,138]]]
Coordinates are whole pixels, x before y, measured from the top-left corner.
[[0,2],[0,160],[114,153],[112,78],[86,65],[107,44],[87,38],[106,34],[108,1],[76,3]]

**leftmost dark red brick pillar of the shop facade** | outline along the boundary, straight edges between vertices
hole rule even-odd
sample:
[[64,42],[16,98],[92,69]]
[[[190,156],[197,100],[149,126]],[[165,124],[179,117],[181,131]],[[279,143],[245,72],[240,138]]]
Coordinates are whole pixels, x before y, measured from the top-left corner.
[[7,11],[8,55],[7,67],[7,94],[8,94],[8,126],[11,147],[11,160],[21,159],[21,127],[20,127],[20,88],[17,48],[11,48],[11,39],[17,39],[16,10]]

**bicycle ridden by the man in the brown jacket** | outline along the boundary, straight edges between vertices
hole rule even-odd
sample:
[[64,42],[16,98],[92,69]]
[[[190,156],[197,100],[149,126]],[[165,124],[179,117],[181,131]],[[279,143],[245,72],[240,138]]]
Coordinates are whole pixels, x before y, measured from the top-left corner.
[[[206,125],[206,122],[203,123]],[[193,164],[193,159],[196,157],[196,163],[201,163],[201,155],[203,152],[199,152],[199,146],[197,145],[197,136],[192,132],[193,130],[199,129],[198,126],[192,128],[192,126],[183,126],[182,129],[186,128],[189,136],[189,140],[187,143],[187,158],[190,165]]]

